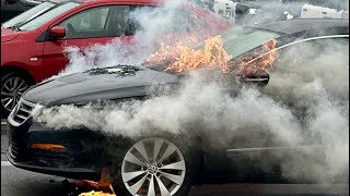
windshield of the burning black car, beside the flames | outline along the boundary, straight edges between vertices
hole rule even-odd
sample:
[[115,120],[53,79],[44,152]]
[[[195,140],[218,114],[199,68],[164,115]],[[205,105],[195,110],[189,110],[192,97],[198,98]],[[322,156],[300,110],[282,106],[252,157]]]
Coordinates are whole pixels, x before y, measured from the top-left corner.
[[221,35],[223,47],[232,58],[242,56],[269,39],[277,39],[281,36],[276,32],[269,32],[257,28],[231,28]]

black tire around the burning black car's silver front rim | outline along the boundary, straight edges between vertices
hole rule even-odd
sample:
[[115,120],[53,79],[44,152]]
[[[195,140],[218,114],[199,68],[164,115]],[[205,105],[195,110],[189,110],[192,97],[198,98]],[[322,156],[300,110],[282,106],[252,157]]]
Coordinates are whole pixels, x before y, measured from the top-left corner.
[[[162,137],[159,137],[162,138]],[[163,137],[164,138],[164,137]],[[167,137],[165,137],[167,138]],[[141,139],[137,139],[135,142],[130,142],[128,144],[128,148],[118,157],[121,157],[118,159],[118,163],[114,162],[113,164],[113,169],[110,170],[112,173],[114,173],[115,175],[112,176],[113,179],[113,188],[115,191],[115,193],[118,196],[131,196],[131,194],[129,193],[129,191],[126,188],[124,182],[122,182],[122,177],[121,177],[121,162],[124,157],[126,156],[127,151],[138,142],[140,142]],[[165,139],[167,142],[173,143],[183,154],[184,159],[185,159],[185,163],[186,163],[186,172],[185,172],[185,179],[180,185],[180,187],[177,189],[177,192],[174,194],[174,196],[185,196],[188,194],[189,189],[192,186],[192,180],[194,180],[194,173],[195,173],[195,164],[194,162],[196,162],[194,159],[196,156],[192,156],[192,154],[190,152],[190,148],[188,148],[187,145],[182,144],[180,142],[174,142],[173,139]],[[187,147],[186,147],[187,146]]]

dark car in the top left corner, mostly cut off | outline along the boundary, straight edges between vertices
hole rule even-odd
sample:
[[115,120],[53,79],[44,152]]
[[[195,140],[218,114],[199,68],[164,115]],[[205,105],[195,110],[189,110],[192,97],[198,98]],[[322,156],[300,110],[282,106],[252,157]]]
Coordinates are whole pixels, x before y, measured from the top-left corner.
[[1,0],[1,23],[25,12],[43,1],[33,0]]

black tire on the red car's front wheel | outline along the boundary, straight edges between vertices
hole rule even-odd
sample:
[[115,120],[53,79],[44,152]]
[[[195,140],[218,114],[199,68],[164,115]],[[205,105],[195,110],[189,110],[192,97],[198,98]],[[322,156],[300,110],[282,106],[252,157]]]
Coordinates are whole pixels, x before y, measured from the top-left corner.
[[22,82],[24,82],[22,86],[19,86],[20,90],[19,90],[18,97],[14,99],[15,105],[20,99],[20,93],[23,94],[31,85],[33,85],[32,79],[30,79],[26,75],[18,73],[18,72],[8,72],[8,73],[4,73],[3,75],[1,75],[1,118],[7,118],[10,114],[13,107],[15,106],[13,103],[10,103],[11,110],[9,109],[9,107],[5,107],[5,103],[7,103],[5,102],[5,100],[7,100],[5,93],[8,93],[8,87],[10,85],[9,83],[11,82],[11,79],[13,81],[15,78],[18,78],[21,84],[22,84]]

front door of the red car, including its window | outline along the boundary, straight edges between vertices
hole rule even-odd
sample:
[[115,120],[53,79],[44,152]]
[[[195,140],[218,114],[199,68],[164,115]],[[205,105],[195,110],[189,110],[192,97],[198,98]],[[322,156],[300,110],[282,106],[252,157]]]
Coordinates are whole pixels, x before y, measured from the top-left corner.
[[130,5],[101,5],[85,9],[57,23],[66,27],[66,37],[45,41],[43,63],[47,65],[46,74],[55,75],[68,64],[68,56],[63,52],[68,47],[79,47],[82,51],[112,39],[127,44],[131,35],[125,36],[125,26],[118,25],[118,21],[122,20],[118,13],[129,12]]

